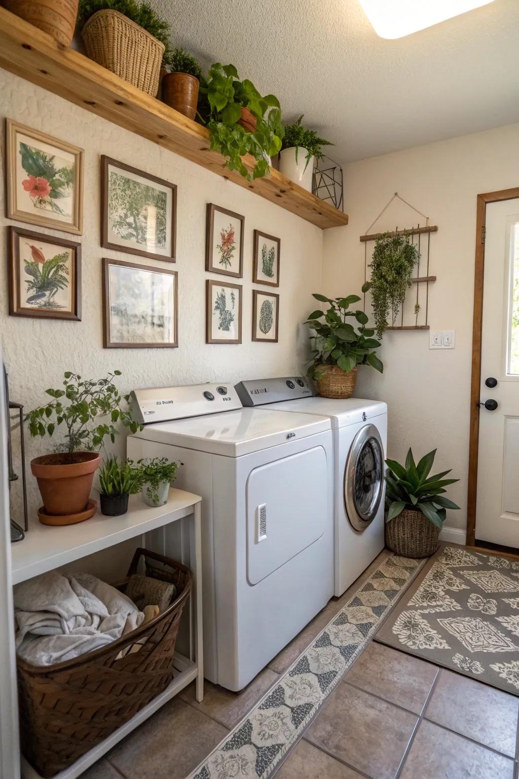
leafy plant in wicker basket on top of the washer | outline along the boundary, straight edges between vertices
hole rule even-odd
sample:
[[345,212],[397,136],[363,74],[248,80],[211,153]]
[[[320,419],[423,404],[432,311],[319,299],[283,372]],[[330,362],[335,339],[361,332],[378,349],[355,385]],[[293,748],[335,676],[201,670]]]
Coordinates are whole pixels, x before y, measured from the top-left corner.
[[[367,288],[365,284],[363,291]],[[334,299],[314,293],[313,297],[328,303],[328,310],[317,308],[305,323],[315,333],[311,336],[314,349],[308,375],[317,380],[317,391],[323,397],[350,397],[355,389],[357,365],[370,365],[383,372],[384,365],[375,354],[380,341],[373,338],[374,330],[366,327],[366,314],[359,309],[349,310],[350,305],[359,302],[359,295]],[[348,321],[351,318],[353,323]],[[335,390],[330,382],[336,385]]]

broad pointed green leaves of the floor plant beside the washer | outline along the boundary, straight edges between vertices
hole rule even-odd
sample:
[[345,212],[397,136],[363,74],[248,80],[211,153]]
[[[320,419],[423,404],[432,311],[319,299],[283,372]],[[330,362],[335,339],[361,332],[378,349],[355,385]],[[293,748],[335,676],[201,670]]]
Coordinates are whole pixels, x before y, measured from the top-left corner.
[[405,466],[396,460],[386,460],[389,471],[386,473],[386,508],[387,522],[395,519],[404,509],[421,511],[436,527],[443,527],[446,509],[459,509],[456,503],[444,498],[444,488],[453,485],[459,479],[445,479],[451,473],[442,471],[430,476],[436,449],[426,454],[415,464],[412,451],[409,449],[405,458]]

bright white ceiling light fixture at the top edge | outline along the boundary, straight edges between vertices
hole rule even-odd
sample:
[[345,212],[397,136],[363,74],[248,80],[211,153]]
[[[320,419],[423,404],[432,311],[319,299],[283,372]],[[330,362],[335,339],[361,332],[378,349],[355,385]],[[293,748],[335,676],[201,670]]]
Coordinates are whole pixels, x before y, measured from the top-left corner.
[[402,38],[493,0],[360,0],[381,38]]

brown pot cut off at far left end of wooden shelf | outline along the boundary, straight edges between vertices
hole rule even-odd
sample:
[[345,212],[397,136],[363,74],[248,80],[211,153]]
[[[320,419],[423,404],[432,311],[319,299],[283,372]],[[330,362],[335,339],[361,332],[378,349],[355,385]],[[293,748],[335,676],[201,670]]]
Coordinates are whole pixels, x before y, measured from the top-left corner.
[[59,44],[70,46],[78,3],[79,0],[2,0],[0,5],[48,33]]

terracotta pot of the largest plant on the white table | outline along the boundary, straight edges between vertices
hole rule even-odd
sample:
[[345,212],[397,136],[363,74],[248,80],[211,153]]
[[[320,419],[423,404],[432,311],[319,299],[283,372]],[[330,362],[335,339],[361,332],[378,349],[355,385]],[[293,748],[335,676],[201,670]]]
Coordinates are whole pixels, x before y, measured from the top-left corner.
[[31,460],[30,470],[37,478],[45,512],[70,515],[86,509],[93,474],[101,462],[96,452],[44,454]]

